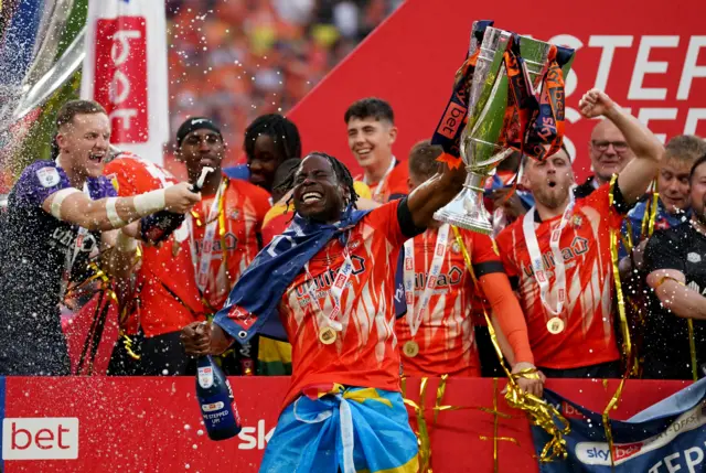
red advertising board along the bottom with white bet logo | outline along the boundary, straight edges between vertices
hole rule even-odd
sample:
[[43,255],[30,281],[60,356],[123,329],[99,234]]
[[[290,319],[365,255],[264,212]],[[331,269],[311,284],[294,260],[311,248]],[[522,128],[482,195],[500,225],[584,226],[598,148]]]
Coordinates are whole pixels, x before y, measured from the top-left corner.
[[[289,378],[234,377],[231,384],[244,428],[235,439],[214,442],[201,423],[190,377],[6,378],[2,471],[257,472]],[[500,394],[504,381],[449,379],[441,404],[461,409],[440,412],[434,423],[437,386],[430,379],[425,396],[435,472],[538,471],[527,420]],[[684,386],[630,380],[612,417],[628,418]],[[418,379],[407,380],[407,397],[418,401],[419,387]],[[547,387],[602,410],[617,381],[549,380]]]

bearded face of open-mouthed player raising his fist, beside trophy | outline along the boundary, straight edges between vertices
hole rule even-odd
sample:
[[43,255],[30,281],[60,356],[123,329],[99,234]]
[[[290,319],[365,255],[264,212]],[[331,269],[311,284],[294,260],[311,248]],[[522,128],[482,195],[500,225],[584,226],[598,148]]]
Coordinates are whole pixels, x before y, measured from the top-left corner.
[[574,171],[564,151],[545,161],[528,159],[525,166],[525,185],[534,198],[548,208],[558,208],[568,201],[574,184]]

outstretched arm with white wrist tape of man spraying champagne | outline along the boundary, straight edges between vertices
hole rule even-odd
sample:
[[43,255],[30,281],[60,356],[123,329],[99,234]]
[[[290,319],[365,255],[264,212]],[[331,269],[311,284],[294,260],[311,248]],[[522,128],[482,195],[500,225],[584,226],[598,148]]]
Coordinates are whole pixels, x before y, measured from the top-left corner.
[[188,212],[199,201],[201,194],[192,193],[188,183],[133,197],[108,197],[98,201],[90,200],[75,187],[67,187],[46,197],[42,208],[63,222],[90,230],[110,230],[162,209]]

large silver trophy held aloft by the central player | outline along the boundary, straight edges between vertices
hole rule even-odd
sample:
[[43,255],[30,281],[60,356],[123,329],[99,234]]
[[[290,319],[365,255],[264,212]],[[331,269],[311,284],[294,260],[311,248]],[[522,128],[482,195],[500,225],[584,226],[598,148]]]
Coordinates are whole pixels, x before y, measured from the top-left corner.
[[[503,144],[509,86],[503,56],[511,44],[511,37],[512,33],[509,31],[491,26],[485,29],[470,86],[468,122],[460,143],[468,178],[464,189],[434,214],[437,221],[485,235],[493,230],[490,214],[483,204],[485,181],[513,151]],[[542,87],[550,46],[543,41],[520,36],[521,55],[534,90]],[[569,61],[563,67],[564,77],[570,65]]]

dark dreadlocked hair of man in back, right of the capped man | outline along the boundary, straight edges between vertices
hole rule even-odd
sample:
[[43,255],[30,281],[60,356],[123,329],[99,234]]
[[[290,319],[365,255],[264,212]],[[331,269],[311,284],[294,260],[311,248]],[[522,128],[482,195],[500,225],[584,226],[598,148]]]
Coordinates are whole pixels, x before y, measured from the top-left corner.
[[248,158],[255,154],[255,141],[261,135],[272,138],[282,161],[301,158],[301,138],[297,126],[291,120],[279,114],[257,117],[245,130],[243,148]]

